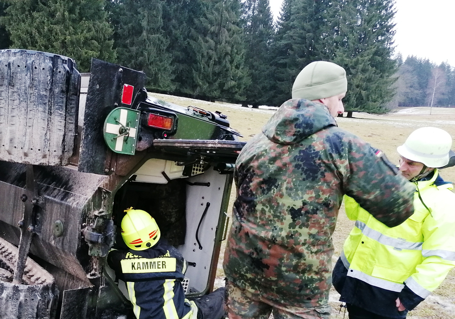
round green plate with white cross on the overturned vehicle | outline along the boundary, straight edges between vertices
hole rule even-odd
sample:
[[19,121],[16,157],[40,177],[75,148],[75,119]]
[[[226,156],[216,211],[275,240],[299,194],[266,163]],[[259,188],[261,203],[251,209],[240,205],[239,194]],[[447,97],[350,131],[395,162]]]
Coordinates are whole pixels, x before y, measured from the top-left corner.
[[116,153],[134,155],[139,127],[140,111],[131,108],[114,108],[104,121],[104,140]]

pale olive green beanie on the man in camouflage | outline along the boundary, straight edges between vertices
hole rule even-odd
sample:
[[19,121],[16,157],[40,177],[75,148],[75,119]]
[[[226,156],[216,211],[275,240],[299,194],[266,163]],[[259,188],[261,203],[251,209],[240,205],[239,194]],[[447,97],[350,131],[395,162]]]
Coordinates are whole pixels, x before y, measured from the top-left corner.
[[310,101],[345,93],[348,90],[346,71],[338,64],[315,61],[297,75],[292,86],[292,98]]

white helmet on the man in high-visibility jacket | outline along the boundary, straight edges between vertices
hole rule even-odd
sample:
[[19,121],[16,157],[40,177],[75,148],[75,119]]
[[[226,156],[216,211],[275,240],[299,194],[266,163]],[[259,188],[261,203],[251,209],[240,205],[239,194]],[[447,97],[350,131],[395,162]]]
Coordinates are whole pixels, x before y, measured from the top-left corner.
[[426,167],[443,167],[449,162],[452,146],[450,134],[440,128],[418,128],[403,145],[397,147],[399,155]]

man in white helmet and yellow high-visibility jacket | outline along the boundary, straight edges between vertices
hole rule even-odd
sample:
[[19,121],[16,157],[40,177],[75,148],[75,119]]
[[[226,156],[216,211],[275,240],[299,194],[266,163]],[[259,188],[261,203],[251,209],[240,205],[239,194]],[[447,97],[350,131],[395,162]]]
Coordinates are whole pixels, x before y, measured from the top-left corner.
[[414,214],[399,226],[385,226],[345,197],[346,213],[356,222],[333,284],[350,319],[405,318],[455,266],[455,194],[435,168],[454,165],[451,145],[444,130],[419,128],[397,148],[399,171],[416,187]]

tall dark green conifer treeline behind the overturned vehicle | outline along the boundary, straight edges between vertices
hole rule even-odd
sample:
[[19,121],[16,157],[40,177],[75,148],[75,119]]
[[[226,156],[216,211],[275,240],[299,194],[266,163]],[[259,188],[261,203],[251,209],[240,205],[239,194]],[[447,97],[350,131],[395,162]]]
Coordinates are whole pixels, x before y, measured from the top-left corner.
[[144,70],[149,89],[257,107],[291,97],[314,60],[348,74],[345,108],[393,100],[394,0],[0,0],[0,47],[49,51]]

